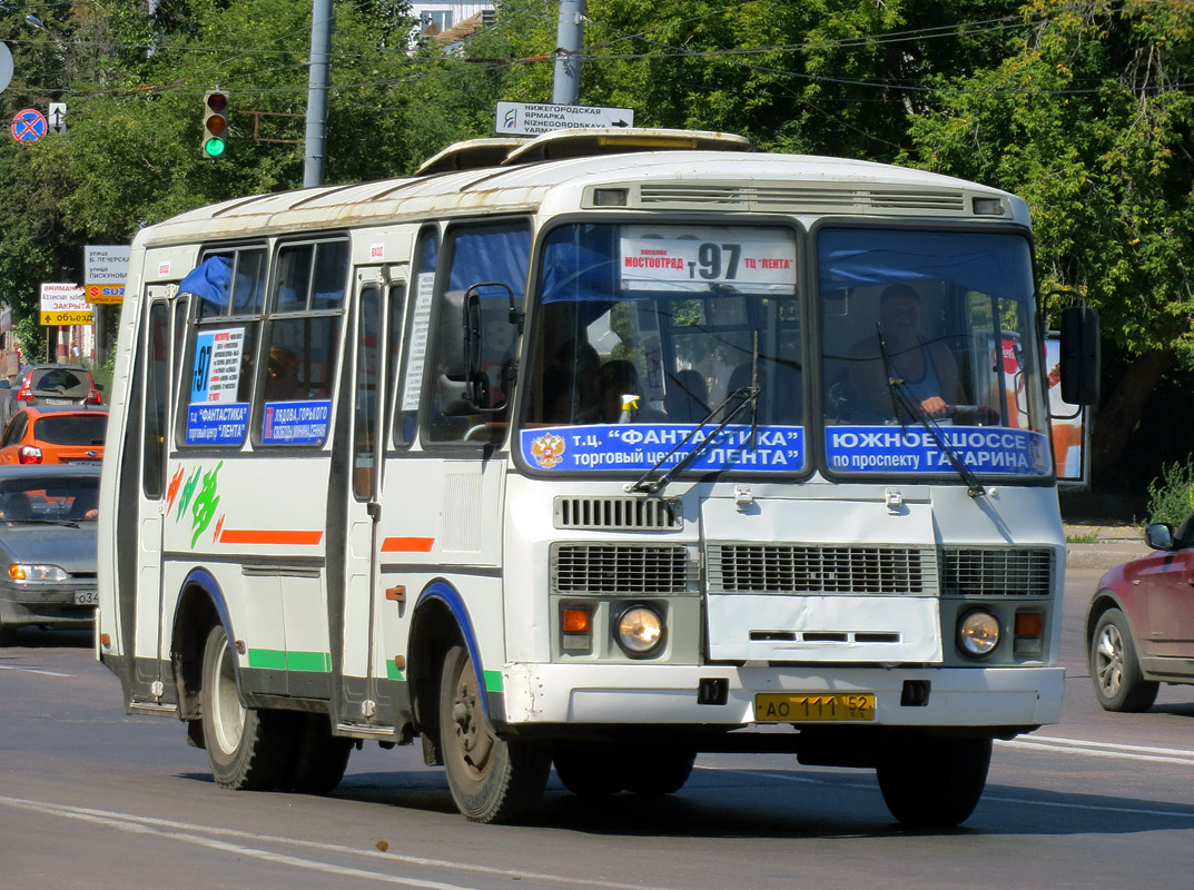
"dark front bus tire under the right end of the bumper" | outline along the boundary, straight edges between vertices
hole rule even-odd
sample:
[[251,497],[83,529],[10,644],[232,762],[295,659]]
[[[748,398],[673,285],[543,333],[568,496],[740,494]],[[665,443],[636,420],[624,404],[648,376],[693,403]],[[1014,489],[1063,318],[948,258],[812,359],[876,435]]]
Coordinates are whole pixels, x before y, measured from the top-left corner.
[[978,805],[991,765],[990,738],[916,735],[879,756],[879,790],[891,814],[915,828],[953,828]]

